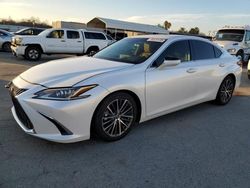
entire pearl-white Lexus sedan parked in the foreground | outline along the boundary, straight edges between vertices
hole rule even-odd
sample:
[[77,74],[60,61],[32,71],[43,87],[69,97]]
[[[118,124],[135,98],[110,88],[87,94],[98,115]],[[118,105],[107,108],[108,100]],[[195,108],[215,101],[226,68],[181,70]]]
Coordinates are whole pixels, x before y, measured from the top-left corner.
[[238,59],[208,40],[125,38],[95,54],[51,61],[16,77],[12,114],[28,134],[60,143],[124,137],[139,122],[205,101],[227,104]]

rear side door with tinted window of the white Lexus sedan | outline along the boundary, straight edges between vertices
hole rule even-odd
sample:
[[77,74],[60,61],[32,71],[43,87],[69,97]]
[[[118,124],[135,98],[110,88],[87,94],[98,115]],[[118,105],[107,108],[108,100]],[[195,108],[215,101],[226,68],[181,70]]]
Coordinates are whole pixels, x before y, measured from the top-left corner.
[[196,97],[198,100],[215,97],[221,71],[227,66],[219,57],[220,49],[206,41],[190,40],[193,53],[193,68],[197,70]]

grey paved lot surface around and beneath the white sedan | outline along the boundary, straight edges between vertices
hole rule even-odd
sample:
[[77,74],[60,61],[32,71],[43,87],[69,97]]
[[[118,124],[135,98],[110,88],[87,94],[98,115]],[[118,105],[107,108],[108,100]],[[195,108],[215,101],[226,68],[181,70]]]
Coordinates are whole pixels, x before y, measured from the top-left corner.
[[[44,61],[68,56],[46,57]],[[41,61],[39,63],[42,63]],[[0,187],[250,186],[250,81],[225,107],[204,103],[140,124],[124,139],[56,144],[26,135],[4,85],[36,63],[0,52]]]

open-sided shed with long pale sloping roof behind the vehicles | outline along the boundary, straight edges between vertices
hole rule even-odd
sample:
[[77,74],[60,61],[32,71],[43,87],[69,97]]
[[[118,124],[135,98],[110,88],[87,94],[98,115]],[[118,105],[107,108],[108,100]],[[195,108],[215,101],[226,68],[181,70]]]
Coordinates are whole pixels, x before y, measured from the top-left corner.
[[161,27],[108,18],[96,17],[87,23],[88,28],[100,29],[115,39],[144,34],[169,34]]

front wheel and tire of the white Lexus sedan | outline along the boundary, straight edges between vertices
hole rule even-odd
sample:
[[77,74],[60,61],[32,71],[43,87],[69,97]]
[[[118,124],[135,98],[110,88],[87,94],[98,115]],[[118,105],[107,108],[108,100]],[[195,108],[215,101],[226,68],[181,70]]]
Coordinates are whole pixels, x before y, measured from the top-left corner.
[[123,92],[106,97],[93,117],[93,128],[105,141],[116,141],[126,136],[136,123],[138,109],[134,98]]

